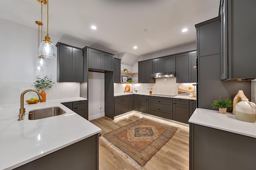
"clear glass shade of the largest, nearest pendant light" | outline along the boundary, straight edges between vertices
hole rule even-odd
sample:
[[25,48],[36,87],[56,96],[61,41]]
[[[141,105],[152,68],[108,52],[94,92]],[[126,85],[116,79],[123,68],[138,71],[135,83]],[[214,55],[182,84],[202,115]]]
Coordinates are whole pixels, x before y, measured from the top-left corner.
[[56,58],[56,51],[52,42],[42,41],[38,49],[38,56],[44,58]]

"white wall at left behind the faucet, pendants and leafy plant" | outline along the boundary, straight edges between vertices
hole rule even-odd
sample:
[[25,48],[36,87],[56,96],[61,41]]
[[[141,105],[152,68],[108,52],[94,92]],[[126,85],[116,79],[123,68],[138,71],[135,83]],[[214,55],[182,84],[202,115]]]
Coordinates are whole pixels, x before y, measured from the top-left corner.
[[[33,89],[36,73],[33,72],[38,59],[38,30],[16,24],[0,18],[0,104],[20,102],[19,88]],[[43,33],[45,36],[46,33]],[[50,34],[54,45],[61,39]],[[70,40],[62,42],[74,43]],[[77,45],[77,44],[76,44]],[[75,46],[75,45],[74,45]],[[81,45],[82,46],[82,45]],[[84,45],[86,46],[86,45]],[[57,50],[57,48],[56,48]],[[46,59],[48,67],[44,68],[45,75],[52,75],[54,82],[57,77],[57,59]],[[73,91],[77,87],[77,91]],[[79,83],[57,83],[53,89],[47,90],[47,99],[60,99],[80,96]],[[29,92],[24,99],[36,97]]]

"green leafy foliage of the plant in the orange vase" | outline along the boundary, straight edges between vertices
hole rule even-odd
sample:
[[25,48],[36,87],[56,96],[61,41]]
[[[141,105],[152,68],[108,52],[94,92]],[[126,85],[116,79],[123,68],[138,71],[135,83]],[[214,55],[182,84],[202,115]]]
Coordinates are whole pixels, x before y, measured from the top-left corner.
[[37,91],[45,91],[51,89],[54,82],[52,81],[52,75],[37,75],[34,86]]

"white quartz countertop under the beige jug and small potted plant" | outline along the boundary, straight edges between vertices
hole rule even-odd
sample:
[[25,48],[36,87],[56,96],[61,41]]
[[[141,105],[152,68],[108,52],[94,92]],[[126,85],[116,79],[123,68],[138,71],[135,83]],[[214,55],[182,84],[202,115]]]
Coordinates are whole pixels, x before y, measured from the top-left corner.
[[232,113],[197,108],[188,122],[256,138],[256,123],[239,121]]

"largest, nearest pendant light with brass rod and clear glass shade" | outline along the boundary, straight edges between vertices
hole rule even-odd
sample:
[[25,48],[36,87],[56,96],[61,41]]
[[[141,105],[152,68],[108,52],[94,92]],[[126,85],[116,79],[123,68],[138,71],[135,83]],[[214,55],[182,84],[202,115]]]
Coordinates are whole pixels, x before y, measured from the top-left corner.
[[42,56],[44,58],[56,58],[56,51],[54,45],[50,41],[51,38],[48,34],[48,10],[49,10],[49,0],[47,0],[47,34],[44,37],[44,41],[41,42],[38,49],[38,56]]

